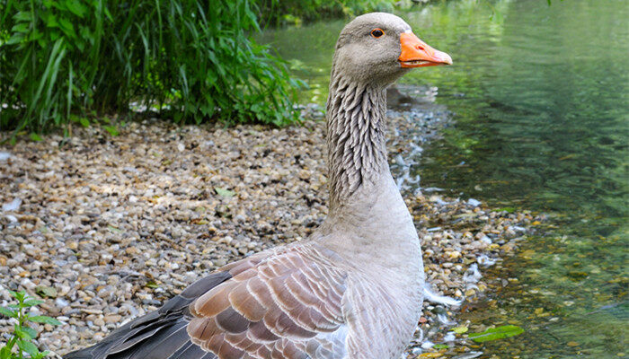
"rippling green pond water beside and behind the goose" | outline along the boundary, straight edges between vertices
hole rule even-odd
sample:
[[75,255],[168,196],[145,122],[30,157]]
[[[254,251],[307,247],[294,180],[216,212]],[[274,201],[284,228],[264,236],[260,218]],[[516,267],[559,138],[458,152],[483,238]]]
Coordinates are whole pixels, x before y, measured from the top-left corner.
[[[455,66],[403,83],[439,87],[456,125],[421,157],[422,187],[550,215],[491,276],[517,278],[461,320],[515,323],[482,357],[629,357],[629,3],[449,1],[403,13]],[[269,32],[323,102],[344,21]]]

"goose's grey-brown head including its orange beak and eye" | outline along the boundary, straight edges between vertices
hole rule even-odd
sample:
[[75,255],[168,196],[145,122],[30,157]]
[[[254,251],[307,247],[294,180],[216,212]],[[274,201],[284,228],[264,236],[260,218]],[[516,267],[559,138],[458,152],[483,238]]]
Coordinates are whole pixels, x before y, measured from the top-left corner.
[[445,52],[431,48],[411,26],[391,13],[360,15],[341,31],[332,62],[332,76],[386,87],[413,67],[452,65]]

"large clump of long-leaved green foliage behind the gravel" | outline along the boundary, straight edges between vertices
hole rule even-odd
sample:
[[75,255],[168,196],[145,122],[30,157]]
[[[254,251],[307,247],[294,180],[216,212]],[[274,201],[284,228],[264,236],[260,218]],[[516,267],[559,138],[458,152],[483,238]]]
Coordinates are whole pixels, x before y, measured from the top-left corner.
[[133,108],[177,123],[296,121],[301,83],[252,40],[256,12],[247,0],[4,0],[0,129]]

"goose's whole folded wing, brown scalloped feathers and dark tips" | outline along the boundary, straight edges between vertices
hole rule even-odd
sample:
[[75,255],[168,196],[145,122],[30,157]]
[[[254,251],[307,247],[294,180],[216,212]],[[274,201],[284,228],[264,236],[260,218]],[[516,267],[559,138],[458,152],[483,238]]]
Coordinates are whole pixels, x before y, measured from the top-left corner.
[[244,258],[66,359],[343,357],[338,260],[312,242]]

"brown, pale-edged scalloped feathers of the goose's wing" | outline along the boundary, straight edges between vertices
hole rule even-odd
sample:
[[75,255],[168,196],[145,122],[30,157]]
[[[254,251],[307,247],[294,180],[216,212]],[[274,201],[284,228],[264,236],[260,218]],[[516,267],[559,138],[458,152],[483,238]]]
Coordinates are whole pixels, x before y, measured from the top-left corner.
[[323,352],[332,353],[338,337],[332,343],[326,333],[344,323],[341,302],[347,276],[330,266],[338,258],[328,258],[325,250],[313,246],[288,246],[228,268],[230,280],[190,305],[192,341],[220,359],[238,353],[318,358],[311,353],[323,346]]

